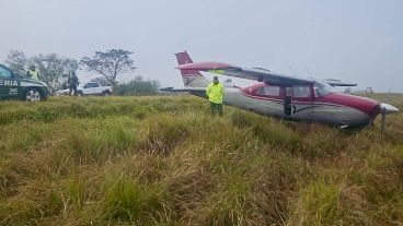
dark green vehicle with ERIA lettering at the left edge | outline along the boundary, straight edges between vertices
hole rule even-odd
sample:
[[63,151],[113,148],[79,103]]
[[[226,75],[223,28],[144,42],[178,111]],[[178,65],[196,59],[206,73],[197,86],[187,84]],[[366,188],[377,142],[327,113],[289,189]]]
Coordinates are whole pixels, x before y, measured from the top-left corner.
[[14,73],[0,63],[0,99],[39,102],[46,99],[48,95],[49,88],[45,83]]

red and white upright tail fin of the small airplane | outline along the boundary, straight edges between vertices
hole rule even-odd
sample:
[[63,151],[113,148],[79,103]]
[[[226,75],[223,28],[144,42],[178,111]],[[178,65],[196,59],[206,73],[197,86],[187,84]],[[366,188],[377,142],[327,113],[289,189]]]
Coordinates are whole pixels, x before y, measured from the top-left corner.
[[[191,56],[186,51],[177,52],[175,53],[175,56],[177,64],[180,66],[193,63]],[[181,70],[181,74],[183,79],[183,84],[187,87],[206,87],[210,83],[207,78],[203,76],[200,71]]]

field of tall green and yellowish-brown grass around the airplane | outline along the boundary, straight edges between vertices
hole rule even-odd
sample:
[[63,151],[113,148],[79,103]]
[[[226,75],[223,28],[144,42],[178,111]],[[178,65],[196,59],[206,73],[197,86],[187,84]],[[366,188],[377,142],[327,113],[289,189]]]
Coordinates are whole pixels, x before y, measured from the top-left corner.
[[381,133],[207,108],[0,103],[0,225],[403,225],[402,114]]

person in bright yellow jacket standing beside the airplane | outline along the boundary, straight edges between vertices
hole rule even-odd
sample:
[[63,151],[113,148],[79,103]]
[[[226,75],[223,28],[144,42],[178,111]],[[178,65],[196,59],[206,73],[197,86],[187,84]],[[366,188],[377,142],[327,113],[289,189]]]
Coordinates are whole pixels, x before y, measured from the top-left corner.
[[212,83],[207,86],[206,94],[210,102],[211,115],[222,116],[223,85],[214,76]]

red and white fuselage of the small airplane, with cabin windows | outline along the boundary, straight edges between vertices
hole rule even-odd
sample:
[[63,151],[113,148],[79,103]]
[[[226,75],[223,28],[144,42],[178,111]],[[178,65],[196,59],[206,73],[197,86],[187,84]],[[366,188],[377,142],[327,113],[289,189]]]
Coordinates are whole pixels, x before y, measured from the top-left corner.
[[[203,91],[191,93],[206,98]],[[371,123],[379,114],[380,104],[373,99],[341,93],[319,95],[314,84],[286,86],[263,82],[245,88],[226,87],[223,103],[260,115],[334,126]]]

